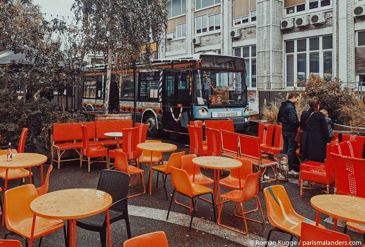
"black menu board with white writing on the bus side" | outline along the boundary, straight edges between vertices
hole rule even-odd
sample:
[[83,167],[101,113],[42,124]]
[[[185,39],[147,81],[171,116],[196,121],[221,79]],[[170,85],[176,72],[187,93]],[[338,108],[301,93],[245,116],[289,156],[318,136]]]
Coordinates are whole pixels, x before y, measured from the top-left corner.
[[141,72],[139,74],[139,97],[158,100],[160,72]]

